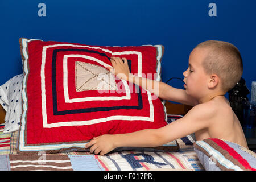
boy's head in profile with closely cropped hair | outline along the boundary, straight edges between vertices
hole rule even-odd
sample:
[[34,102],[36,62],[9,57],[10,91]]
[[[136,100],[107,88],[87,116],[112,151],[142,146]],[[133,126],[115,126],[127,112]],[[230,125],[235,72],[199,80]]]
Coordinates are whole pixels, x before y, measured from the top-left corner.
[[[193,68],[193,66],[197,68]],[[199,68],[201,68],[201,72]],[[195,72],[193,69],[195,69]],[[197,86],[201,87],[202,91],[205,88],[208,88],[208,90],[218,88],[219,91],[226,93],[241,79],[242,72],[242,57],[233,44],[208,40],[198,44],[193,49],[189,56],[189,68],[183,75],[185,76],[184,80],[187,81],[187,86],[191,86],[188,85],[189,79],[192,82],[196,78],[200,78],[198,81],[201,83]],[[188,76],[191,78],[188,78]],[[207,82],[204,82],[204,79]]]

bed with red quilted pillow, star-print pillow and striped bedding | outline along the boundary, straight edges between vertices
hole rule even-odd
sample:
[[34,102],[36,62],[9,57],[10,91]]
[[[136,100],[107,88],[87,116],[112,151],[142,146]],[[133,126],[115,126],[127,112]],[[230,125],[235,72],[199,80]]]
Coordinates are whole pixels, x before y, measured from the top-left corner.
[[[126,56],[131,73],[147,78],[150,73],[160,81],[163,46],[26,38],[19,43],[23,73],[0,87],[0,170],[255,170],[254,152],[221,139],[196,141],[194,134],[158,147],[116,148],[103,156],[84,148],[98,135],[168,125],[192,108],[160,100],[105,69],[111,67],[110,56]],[[104,89],[98,89],[95,78],[102,72],[115,81],[100,77]],[[124,91],[116,93],[119,89]],[[110,90],[111,96],[98,90]]]

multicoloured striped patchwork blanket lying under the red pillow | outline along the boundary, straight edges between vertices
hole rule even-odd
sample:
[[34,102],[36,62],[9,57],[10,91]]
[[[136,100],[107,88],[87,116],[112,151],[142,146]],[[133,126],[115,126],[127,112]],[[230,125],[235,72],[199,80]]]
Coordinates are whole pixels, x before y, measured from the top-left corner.
[[[180,115],[168,115],[168,122]],[[16,153],[18,132],[3,133],[0,125],[0,170],[84,170],[84,171],[148,171],[204,170],[193,150],[193,135],[177,139],[178,152],[122,151],[104,156],[89,152],[19,155]]]

